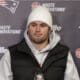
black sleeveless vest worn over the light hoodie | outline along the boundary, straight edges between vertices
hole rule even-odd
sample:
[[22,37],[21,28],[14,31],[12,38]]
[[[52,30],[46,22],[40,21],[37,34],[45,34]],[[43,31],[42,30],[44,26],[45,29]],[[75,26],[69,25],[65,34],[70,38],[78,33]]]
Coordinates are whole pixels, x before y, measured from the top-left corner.
[[13,80],[34,80],[43,74],[45,80],[64,80],[69,49],[58,43],[50,50],[43,66],[40,67],[25,40],[9,47]]

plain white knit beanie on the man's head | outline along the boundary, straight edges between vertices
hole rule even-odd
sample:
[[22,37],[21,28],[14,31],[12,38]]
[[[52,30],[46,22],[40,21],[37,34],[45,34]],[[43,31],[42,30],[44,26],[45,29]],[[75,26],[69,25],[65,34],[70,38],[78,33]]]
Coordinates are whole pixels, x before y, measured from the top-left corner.
[[44,6],[38,6],[32,10],[28,17],[27,27],[33,21],[44,22],[52,29],[52,15],[49,9]]

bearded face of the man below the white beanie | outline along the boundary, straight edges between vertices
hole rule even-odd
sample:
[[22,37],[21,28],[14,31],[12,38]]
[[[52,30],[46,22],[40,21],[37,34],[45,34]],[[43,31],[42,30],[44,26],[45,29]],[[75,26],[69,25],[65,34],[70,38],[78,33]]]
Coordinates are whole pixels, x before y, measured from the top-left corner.
[[28,27],[28,35],[33,43],[40,44],[48,41],[49,30],[50,28],[47,24],[40,21],[35,21],[30,23]]

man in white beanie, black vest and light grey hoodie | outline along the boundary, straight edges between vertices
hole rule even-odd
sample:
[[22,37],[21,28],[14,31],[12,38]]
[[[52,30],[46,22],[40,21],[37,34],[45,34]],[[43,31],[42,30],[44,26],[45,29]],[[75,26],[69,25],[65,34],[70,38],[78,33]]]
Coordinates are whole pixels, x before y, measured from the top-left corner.
[[52,22],[47,8],[32,10],[24,39],[5,49],[4,80],[79,80],[69,48],[60,44]]

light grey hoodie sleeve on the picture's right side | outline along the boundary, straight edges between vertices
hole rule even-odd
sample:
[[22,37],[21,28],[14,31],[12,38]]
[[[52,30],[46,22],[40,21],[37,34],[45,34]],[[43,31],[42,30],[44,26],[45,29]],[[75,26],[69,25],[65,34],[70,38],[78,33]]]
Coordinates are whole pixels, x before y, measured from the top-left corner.
[[70,52],[68,54],[64,80],[80,80],[76,65]]

